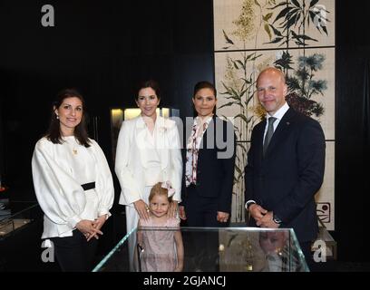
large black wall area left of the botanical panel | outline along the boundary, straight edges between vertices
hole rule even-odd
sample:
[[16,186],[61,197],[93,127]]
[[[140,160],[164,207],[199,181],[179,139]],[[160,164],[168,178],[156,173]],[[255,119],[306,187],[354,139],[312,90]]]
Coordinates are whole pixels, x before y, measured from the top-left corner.
[[111,161],[109,109],[135,106],[134,84],[156,79],[162,105],[186,116],[194,83],[213,78],[210,0],[48,1],[54,27],[40,23],[44,4],[9,0],[0,9],[0,72],[8,80],[2,95],[5,171],[13,197],[34,198],[34,143],[61,89],[83,93]]

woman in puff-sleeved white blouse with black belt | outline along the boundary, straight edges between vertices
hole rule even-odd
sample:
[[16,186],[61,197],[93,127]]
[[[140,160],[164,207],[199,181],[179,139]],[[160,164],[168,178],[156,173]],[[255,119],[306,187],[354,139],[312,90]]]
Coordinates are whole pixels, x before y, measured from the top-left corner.
[[34,147],[32,171],[44,245],[54,247],[63,271],[91,270],[114,189],[102,149],[87,136],[79,92],[58,94],[49,130]]

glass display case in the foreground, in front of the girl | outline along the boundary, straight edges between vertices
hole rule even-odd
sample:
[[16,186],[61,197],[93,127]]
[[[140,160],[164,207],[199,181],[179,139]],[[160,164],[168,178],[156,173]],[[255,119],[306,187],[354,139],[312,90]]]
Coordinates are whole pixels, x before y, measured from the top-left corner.
[[[183,257],[174,242],[175,233],[182,238]],[[155,241],[154,246],[151,241]],[[166,266],[179,266],[180,260],[181,270],[186,272],[309,271],[290,228],[145,227],[122,237],[93,272],[169,271]]]

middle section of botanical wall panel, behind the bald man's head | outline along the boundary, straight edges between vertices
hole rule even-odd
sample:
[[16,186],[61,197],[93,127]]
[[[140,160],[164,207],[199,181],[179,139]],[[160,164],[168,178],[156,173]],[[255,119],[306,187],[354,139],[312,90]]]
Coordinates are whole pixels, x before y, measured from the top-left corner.
[[[292,106],[298,104],[296,109],[319,121],[326,140],[334,140],[334,48],[215,53],[218,114],[235,117],[238,140],[250,140],[253,126],[260,121],[261,114],[264,114],[255,94],[258,72],[268,66],[277,66],[281,63],[283,54],[290,57],[291,69],[286,72],[288,78],[295,83],[294,89],[292,85],[289,90],[287,101]],[[248,57],[244,65],[244,60]]]

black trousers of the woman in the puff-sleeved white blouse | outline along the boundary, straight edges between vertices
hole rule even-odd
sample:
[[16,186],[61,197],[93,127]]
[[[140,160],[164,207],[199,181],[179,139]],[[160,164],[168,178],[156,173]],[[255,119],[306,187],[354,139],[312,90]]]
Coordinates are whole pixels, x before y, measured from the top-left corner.
[[73,230],[73,237],[52,237],[54,254],[63,272],[88,272],[93,270],[98,247],[96,238],[89,242],[78,230]]

